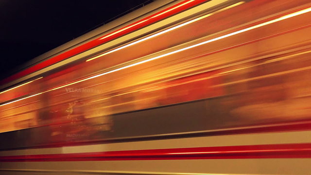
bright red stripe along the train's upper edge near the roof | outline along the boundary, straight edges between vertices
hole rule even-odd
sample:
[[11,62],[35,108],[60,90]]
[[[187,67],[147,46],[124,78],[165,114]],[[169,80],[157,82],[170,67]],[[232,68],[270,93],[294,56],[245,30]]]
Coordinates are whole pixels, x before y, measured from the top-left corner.
[[[69,50],[69,51],[67,51],[65,53],[61,53],[61,54],[59,54],[57,56],[54,56],[54,57],[52,57],[52,58],[50,58],[50,59],[48,59],[46,61],[40,62],[40,63],[36,64],[35,66],[32,66],[32,67],[30,67],[28,69],[22,70],[22,71],[14,74],[14,75],[8,77],[8,78],[5,78],[5,79],[1,80],[0,84],[8,83],[10,81],[18,79],[18,78],[23,77],[25,75],[28,75],[30,73],[33,73],[33,72],[35,72],[37,70],[41,70],[43,68],[51,66],[52,64],[55,64],[55,63],[60,62],[62,60],[65,60],[65,59],[67,59],[67,58],[69,58],[71,56],[74,56],[76,54],[85,52],[85,51],[87,51],[87,50],[89,50],[91,48],[99,46],[99,45],[101,45],[101,44],[103,44],[105,42],[111,41],[111,40],[113,40],[113,39],[115,39],[117,37],[120,37],[122,35],[129,34],[129,33],[133,32],[135,30],[138,30],[138,29],[143,28],[143,27],[145,27],[147,25],[155,23],[155,22],[157,22],[157,21],[159,21],[161,19],[170,17],[170,16],[172,16],[172,15],[174,15],[176,13],[179,13],[179,12],[181,12],[183,10],[186,10],[186,9],[188,9],[190,7],[193,7],[193,6],[195,6],[195,5],[199,4],[199,3],[202,3],[204,1],[207,1],[207,0],[184,0],[184,1],[180,2],[180,3],[177,3],[177,4],[169,7],[169,8],[166,8],[166,9],[160,11],[160,12],[157,12],[157,13],[149,16],[149,17],[146,17],[146,18],[143,18],[141,20],[138,20],[137,22],[134,22],[134,23],[132,23],[130,25],[127,25],[127,26],[125,26],[125,27],[123,27],[121,29],[118,29],[118,30],[113,31],[113,32],[111,32],[109,34],[106,34],[106,35],[103,35],[103,36],[101,36],[99,38],[91,40],[91,41],[89,41],[89,42],[87,42],[87,43],[85,43],[85,44],[83,44],[81,46],[78,46],[76,48],[73,48],[73,49],[71,49],[71,50]],[[103,37],[104,37],[104,39],[101,39]]]

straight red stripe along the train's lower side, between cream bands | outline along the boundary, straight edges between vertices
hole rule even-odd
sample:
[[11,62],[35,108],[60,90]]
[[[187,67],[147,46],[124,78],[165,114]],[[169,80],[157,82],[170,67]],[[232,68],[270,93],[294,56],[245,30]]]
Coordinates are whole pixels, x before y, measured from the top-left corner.
[[0,157],[0,161],[99,161],[228,158],[311,158],[311,143],[4,156]]

